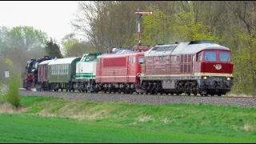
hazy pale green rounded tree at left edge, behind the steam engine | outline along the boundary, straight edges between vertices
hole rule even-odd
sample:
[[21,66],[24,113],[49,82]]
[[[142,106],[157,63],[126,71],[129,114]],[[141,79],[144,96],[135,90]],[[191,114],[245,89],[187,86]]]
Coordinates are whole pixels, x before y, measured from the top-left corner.
[[[0,54],[10,58],[18,71],[25,70],[26,62],[31,58],[45,55],[46,33],[32,26],[0,26]],[[9,68],[0,62],[0,80],[6,82],[4,71]]]

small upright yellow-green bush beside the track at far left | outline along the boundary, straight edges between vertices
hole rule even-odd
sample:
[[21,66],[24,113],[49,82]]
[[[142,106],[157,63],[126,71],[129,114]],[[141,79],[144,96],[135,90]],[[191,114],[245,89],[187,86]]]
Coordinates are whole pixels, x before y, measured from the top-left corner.
[[20,103],[20,95],[19,95],[19,86],[22,82],[20,74],[16,71],[12,71],[10,73],[10,78],[8,82],[8,90],[6,94],[6,102],[10,103],[10,105],[14,106],[15,108],[18,108],[18,106],[21,106]]

